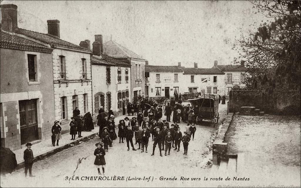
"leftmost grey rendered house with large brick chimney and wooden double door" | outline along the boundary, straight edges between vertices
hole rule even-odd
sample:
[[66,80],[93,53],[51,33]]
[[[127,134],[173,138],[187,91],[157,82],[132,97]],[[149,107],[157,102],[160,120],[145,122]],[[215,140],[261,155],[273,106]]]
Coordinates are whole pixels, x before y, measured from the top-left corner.
[[1,146],[49,139],[54,117],[51,45],[17,34],[17,6],[1,5]]

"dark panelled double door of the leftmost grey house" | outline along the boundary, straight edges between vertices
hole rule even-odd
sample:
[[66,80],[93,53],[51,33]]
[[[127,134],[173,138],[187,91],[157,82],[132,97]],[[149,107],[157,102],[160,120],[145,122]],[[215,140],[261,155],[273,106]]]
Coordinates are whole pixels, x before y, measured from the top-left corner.
[[20,100],[19,114],[21,145],[39,139],[36,99]]

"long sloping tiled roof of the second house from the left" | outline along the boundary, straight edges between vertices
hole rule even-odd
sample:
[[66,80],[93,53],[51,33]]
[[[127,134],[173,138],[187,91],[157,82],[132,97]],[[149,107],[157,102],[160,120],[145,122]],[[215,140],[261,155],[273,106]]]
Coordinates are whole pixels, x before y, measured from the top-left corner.
[[86,49],[86,48],[83,48],[83,47],[78,46],[76,44],[67,42],[65,40],[62,40],[62,39],[60,39],[56,36],[50,35],[50,34],[39,33],[39,32],[36,32],[36,31],[29,31],[29,30],[22,29],[22,28],[17,28],[15,32],[19,33],[19,34],[23,34],[27,37],[31,37],[35,40],[39,40],[41,42],[51,44],[51,45],[61,46],[61,47],[76,49],[76,50],[82,50],[82,51],[86,51],[86,52],[92,52],[89,49]]

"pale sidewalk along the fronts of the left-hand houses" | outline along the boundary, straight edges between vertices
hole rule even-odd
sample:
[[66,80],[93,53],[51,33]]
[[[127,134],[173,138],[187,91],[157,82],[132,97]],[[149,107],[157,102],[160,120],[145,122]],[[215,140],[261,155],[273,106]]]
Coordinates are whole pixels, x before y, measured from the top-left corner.
[[[115,126],[117,126],[117,128],[115,128],[116,133],[118,133],[119,120],[124,119],[126,116],[127,115],[122,115],[122,116],[119,116],[119,117],[115,118]],[[128,117],[132,118],[133,116],[128,116]],[[51,153],[54,153],[54,152],[60,151],[64,148],[70,147],[71,144],[74,145],[74,144],[77,144],[79,141],[84,140],[84,139],[86,139],[90,136],[98,135],[98,131],[99,131],[99,127],[95,126],[94,130],[92,130],[92,131],[89,131],[89,132],[83,131],[82,132],[83,137],[82,138],[76,138],[75,140],[70,140],[71,135],[69,133],[63,134],[62,139],[60,139],[60,141],[59,141],[59,146],[57,146],[57,145],[52,146],[51,145],[51,138],[47,139],[47,140],[42,140],[41,142],[33,144],[33,146],[31,148],[33,150],[34,160],[35,161],[40,160],[43,157],[45,157],[45,156],[47,156]],[[76,137],[77,137],[77,135],[76,135]],[[16,154],[18,167],[24,165],[23,155],[24,155],[24,150],[25,149],[26,149],[26,146],[24,146],[21,149],[13,151]]]

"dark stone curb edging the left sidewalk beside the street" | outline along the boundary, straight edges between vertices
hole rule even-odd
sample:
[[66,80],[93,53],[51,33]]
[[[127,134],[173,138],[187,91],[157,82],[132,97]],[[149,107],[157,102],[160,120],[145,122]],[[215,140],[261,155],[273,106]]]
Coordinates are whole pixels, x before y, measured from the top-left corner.
[[[91,134],[91,135],[84,136],[84,137],[82,137],[82,138],[80,138],[80,139],[77,139],[77,140],[75,140],[75,141],[72,141],[72,142],[70,142],[70,143],[68,143],[68,144],[65,144],[65,145],[62,145],[62,146],[60,146],[60,147],[58,147],[58,148],[55,148],[55,149],[53,149],[53,150],[51,150],[51,151],[47,151],[47,152],[44,153],[44,154],[40,154],[40,155],[34,157],[34,158],[33,158],[33,161],[36,162],[36,161],[42,160],[43,158],[48,157],[48,156],[50,156],[51,154],[55,154],[55,153],[57,153],[57,152],[59,152],[59,151],[61,151],[61,150],[63,150],[63,149],[66,149],[66,148],[71,147],[71,144],[75,145],[75,144],[77,144],[79,141],[84,140],[84,139],[87,139],[87,138],[89,138],[89,137],[91,137],[91,136],[95,136],[95,135],[97,135],[97,134],[98,134],[98,133],[93,133],[93,134]],[[24,162],[24,161],[23,161],[22,163],[18,163],[18,164],[17,164],[17,168],[16,168],[15,170],[20,169],[20,168],[23,168],[23,166],[25,166],[25,162]]]

